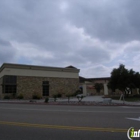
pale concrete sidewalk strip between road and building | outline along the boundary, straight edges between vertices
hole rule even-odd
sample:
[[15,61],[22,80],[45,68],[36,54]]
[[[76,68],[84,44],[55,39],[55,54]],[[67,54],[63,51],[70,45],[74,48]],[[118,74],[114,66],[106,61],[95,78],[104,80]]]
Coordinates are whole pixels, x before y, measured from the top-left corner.
[[[109,99],[110,100],[110,99]],[[46,104],[44,103],[45,99],[41,100],[0,100],[0,103],[19,103],[19,104]],[[56,102],[54,102],[53,98],[49,99],[48,104],[55,104],[55,105],[108,105],[108,106],[140,106],[140,102],[123,102],[120,100],[111,100],[111,102],[105,101],[102,96],[86,96],[82,99],[81,102],[78,102],[78,99],[76,97],[70,98],[70,101],[68,102],[67,98],[59,98]]]

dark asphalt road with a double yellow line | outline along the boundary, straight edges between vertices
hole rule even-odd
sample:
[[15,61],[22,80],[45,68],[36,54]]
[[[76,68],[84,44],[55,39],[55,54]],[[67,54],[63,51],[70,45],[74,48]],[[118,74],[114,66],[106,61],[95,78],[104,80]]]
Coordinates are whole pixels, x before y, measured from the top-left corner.
[[128,140],[139,107],[0,103],[0,140]]

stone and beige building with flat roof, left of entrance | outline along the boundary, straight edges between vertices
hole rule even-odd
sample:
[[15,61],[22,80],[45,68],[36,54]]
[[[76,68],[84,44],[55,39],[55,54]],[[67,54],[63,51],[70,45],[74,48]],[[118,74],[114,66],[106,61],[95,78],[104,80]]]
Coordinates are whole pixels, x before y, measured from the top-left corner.
[[53,94],[70,94],[79,88],[79,69],[7,64],[0,68],[0,98],[22,94],[31,99]]

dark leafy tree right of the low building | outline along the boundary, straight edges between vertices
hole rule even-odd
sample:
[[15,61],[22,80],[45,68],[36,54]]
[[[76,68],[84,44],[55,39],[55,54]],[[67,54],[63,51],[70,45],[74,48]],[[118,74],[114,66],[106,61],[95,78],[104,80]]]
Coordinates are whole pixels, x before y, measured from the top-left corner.
[[111,72],[111,78],[108,86],[112,89],[120,89],[125,91],[126,87],[140,88],[140,74],[133,69],[126,69],[125,65],[120,64],[119,68],[115,68]]

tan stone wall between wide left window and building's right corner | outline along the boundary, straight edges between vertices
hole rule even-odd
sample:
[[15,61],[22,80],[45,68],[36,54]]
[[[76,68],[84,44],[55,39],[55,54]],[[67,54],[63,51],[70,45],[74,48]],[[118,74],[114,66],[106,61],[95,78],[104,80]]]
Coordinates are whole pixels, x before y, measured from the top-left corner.
[[17,76],[17,95],[23,94],[25,99],[33,94],[42,96],[42,82],[49,81],[49,95],[60,93],[74,93],[79,88],[78,78],[48,78]]

